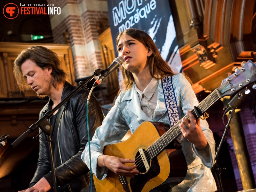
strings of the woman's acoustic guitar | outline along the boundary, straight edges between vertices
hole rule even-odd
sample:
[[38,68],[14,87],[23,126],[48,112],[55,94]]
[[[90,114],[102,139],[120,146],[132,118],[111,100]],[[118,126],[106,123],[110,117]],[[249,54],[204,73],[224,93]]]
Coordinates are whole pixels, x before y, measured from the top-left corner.
[[[224,84],[227,84],[226,82]],[[223,84],[223,85],[224,85]],[[221,87],[221,86],[220,86]],[[216,90],[214,90],[212,92],[212,94],[208,95],[202,102],[200,102],[197,106],[197,108],[199,108],[201,110],[201,112],[203,113],[203,111],[205,111],[207,108],[209,108],[211,105],[213,105],[217,100],[219,100],[220,97],[217,93]],[[209,104],[209,106],[207,105],[207,103],[211,101],[211,103]],[[206,103],[207,102],[207,103]],[[194,110],[192,110],[194,111]],[[191,112],[192,112],[191,111]],[[192,112],[193,113],[193,112]],[[169,145],[170,142],[172,142],[176,136],[178,136],[180,133],[181,133],[181,129],[179,127],[179,123],[184,119],[184,118],[187,118],[187,119],[190,119],[189,115],[186,114],[181,120],[179,120],[174,126],[172,126],[168,131],[166,131],[166,133],[164,133],[156,142],[154,142],[149,148],[147,148],[147,150],[144,151],[144,154],[145,154],[145,157],[146,159],[150,159],[152,160],[154,157],[156,157],[156,155],[158,155],[167,145]],[[176,133],[175,133],[175,132]],[[173,136],[170,135],[170,133],[172,133]],[[177,135],[176,135],[177,134]],[[176,135],[176,136],[175,136]],[[168,136],[168,137],[167,137]],[[169,140],[171,139],[171,141],[169,142]],[[167,145],[166,145],[166,141],[167,141]],[[161,142],[161,143],[160,143]],[[164,145],[163,145],[163,142],[164,142]],[[154,149],[152,148],[155,148],[155,151],[156,153],[154,152]],[[157,148],[156,148],[157,147]],[[162,147],[163,149],[161,149],[160,147]],[[158,152],[157,152],[158,150]],[[151,152],[153,151],[153,152]],[[152,155],[151,155],[151,154]],[[153,156],[153,158],[152,158]],[[137,162],[138,161],[138,162]],[[130,163],[128,164],[128,166],[133,166],[133,165],[137,165],[137,170],[139,171],[143,166],[144,166],[144,163],[143,163],[143,160],[141,159],[140,156],[138,156],[137,158],[135,158],[135,163]]]

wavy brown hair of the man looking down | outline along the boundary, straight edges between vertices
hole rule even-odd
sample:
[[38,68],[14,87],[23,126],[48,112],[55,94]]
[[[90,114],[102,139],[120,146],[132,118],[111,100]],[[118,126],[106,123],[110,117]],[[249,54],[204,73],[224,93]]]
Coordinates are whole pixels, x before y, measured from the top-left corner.
[[27,60],[31,60],[41,69],[52,67],[54,88],[66,81],[67,74],[61,69],[61,61],[57,54],[43,46],[31,46],[23,50],[14,61],[13,74],[22,91],[30,88],[21,72],[21,65]]

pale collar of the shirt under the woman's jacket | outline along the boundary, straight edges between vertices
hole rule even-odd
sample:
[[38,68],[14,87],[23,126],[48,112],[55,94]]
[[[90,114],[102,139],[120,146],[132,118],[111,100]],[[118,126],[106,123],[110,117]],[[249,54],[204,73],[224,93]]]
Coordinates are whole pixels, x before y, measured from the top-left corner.
[[140,101],[142,99],[143,94],[148,100],[150,100],[153,94],[155,93],[157,86],[158,86],[158,80],[156,80],[155,78],[152,78],[148,86],[142,92],[137,88],[136,83],[134,83],[134,87],[135,87],[135,90],[138,92]]

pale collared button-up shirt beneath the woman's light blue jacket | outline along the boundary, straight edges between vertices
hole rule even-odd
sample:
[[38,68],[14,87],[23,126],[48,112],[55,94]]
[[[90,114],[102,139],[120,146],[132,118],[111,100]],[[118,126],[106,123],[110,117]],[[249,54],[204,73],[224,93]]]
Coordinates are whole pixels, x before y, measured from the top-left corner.
[[150,118],[153,119],[153,114],[157,105],[157,86],[158,80],[152,78],[148,86],[142,92],[135,85],[135,90],[138,92],[139,100],[141,102],[142,111]]

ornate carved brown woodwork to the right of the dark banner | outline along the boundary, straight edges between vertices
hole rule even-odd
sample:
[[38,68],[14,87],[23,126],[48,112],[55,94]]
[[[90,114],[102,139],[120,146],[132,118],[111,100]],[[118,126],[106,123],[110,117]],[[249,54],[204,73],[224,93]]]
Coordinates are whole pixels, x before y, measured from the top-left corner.
[[[256,45],[252,41],[255,0],[204,2],[205,6],[199,0],[176,0],[170,4],[184,73],[195,83],[196,90],[212,91],[227,77],[226,72],[232,73],[227,66],[249,59],[256,61]],[[193,26],[193,19],[202,23]],[[205,51],[203,55],[195,51],[200,50],[198,47]]]

